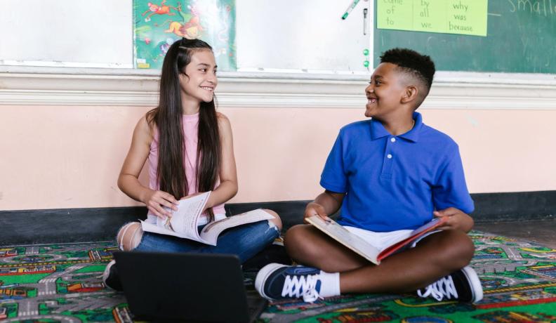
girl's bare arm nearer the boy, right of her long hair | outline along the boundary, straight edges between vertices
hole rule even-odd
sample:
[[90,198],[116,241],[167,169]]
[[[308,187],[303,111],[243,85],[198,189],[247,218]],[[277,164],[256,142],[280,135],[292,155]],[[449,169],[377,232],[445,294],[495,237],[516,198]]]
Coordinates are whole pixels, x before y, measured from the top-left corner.
[[220,166],[220,185],[211,193],[206,208],[223,204],[237,193],[237,171],[234,157],[234,143],[230,120],[218,113],[218,130],[222,143],[222,165]]

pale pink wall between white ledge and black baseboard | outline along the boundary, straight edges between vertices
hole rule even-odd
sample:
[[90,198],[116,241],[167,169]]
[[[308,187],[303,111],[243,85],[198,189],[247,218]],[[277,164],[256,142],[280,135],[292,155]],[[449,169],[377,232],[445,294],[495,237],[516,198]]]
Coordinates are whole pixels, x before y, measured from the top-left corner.
[[[145,107],[1,106],[0,210],[138,205],[117,175]],[[363,109],[221,108],[232,121],[231,202],[312,199],[340,126]],[[422,110],[460,145],[471,192],[556,190],[556,110]]]

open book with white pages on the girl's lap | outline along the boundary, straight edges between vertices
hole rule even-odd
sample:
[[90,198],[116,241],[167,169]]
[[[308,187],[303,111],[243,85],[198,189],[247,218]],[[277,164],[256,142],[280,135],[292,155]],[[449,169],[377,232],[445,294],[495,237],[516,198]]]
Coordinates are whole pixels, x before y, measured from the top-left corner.
[[256,209],[238,214],[237,216],[213,221],[205,225],[199,233],[197,226],[210,195],[211,192],[206,192],[187,199],[181,199],[178,211],[172,211],[171,217],[157,217],[157,224],[141,221],[143,231],[159,233],[161,235],[173,235],[174,237],[192,239],[216,246],[218,235],[227,228],[272,218],[269,213],[262,209]]

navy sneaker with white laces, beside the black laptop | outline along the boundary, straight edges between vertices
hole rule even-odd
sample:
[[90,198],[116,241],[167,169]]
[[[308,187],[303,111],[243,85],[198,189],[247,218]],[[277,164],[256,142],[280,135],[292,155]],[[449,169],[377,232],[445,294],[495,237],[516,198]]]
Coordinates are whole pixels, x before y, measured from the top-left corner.
[[270,263],[258,272],[255,289],[270,301],[303,298],[312,303],[320,298],[320,274],[317,268]]

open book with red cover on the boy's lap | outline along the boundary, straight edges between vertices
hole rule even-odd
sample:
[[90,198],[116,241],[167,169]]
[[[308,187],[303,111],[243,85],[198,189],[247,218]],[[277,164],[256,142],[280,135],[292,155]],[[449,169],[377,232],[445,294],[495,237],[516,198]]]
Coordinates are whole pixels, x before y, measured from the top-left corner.
[[352,251],[355,251],[360,256],[376,265],[379,265],[381,260],[395,253],[395,251],[401,249],[403,246],[411,244],[411,242],[423,236],[425,233],[437,229],[446,222],[446,218],[434,218],[416,230],[404,230],[404,232],[399,232],[399,235],[392,237],[386,245],[373,246],[344,228],[342,225],[339,225],[334,220],[326,221],[320,216],[311,216],[306,220],[308,223],[314,225],[315,228],[326,233],[326,235],[340,242],[340,244],[347,246]]

